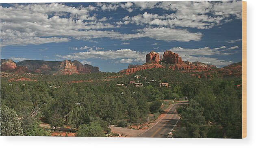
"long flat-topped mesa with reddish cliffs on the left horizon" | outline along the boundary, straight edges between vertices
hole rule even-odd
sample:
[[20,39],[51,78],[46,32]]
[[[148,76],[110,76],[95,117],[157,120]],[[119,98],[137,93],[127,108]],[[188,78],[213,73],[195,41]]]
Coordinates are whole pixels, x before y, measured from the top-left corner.
[[24,60],[15,63],[13,60],[1,59],[1,71],[11,73],[43,73],[54,75],[71,75],[80,73],[97,73],[99,67],[82,64],[77,60],[43,61]]

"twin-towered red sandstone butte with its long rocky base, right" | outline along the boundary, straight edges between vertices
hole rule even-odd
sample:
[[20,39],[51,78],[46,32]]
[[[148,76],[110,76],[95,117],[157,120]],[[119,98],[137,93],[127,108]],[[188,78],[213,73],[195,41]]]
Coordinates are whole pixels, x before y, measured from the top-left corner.
[[[160,58],[159,58],[160,57]],[[241,64],[238,66],[226,66],[224,68],[218,69],[214,65],[205,64],[202,62],[189,62],[183,61],[182,58],[172,51],[165,51],[162,55],[159,56],[158,53],[155,51],[151,51],[149,54],[146,55],[146,62],[143,65],[129,65],[128,69],[121,70],[120,73],[131,74],[137,71],[141,71],[144,69],[152,69],[152,68],[163,68],[164,66],[168,65],[169,69],[178,70],[181,72],[194,72],[200,73],[204,72],[202,76],[207,77],[207,75],[212,75],[212,73],[218,72],[221,75],[236,75],[241,76],[239,71],[242,71]],[[200,77],[199,74],[191,74],[197,77]]]

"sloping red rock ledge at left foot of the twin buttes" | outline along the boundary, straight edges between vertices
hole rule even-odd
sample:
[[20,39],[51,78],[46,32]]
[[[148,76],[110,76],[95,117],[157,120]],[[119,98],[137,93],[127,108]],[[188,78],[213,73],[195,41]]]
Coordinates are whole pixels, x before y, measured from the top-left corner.
[[145,69],[153,69],[153,68],[163,68],[163,66],[161,64],[158,64],[158,63],[145,63],[141,66],[137,66],[135,68],[130,68],[130,69],[124,69],[124,70],[121,70],[119,72],[129,75],[129,74],[135,73],[137,71],[141,71],[141,70],[145,70]]

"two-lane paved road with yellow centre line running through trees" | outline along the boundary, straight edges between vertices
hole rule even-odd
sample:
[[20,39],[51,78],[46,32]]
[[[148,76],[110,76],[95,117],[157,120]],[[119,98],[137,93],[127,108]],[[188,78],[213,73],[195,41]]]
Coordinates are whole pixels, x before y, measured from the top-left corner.
[[145,132],[141,133],[138,137],[168,137],[171,130],[175,127],[180,116],[176,112],[176,108],[179,105],[184,105],[187,102],[176,103],[169,106],[169,111],[165,113],[165,116],[156,121],[152,127]]

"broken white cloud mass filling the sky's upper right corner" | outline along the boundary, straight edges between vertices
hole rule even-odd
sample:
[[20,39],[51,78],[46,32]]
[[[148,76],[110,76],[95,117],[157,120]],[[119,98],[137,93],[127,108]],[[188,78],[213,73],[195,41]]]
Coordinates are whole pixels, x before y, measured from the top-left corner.
[[162,8],[174,11],[174,13],[158,15],[145,12],[132,17],[126,16],[123,20],[125,20],[126,24],[208,29],[230,21],[231,16],[241,19],[241,4],[241,1],[135,2],[135,6],[138,6],[141,10]]

